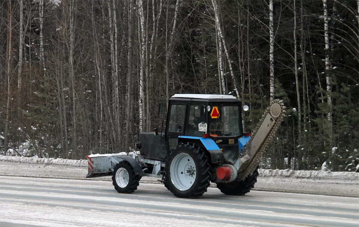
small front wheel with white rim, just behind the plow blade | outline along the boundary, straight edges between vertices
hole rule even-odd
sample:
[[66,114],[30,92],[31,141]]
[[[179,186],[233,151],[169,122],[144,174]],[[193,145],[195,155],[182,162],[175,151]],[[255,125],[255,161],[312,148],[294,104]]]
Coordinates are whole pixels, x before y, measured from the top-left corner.
[[127,161],[117,163],[113,168],[112,184],[118,193],[132,193],[137,189],[140,175],[136,175],[134,168]]

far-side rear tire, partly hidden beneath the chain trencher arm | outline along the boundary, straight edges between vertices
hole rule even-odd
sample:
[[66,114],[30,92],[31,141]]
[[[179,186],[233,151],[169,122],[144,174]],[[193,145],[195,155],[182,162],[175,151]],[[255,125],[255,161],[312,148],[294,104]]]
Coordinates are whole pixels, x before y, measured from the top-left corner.
[[257,182],[258,167],[244,180],[233,180],[229,183],[217,183],[217,188],[226,195],[245,195],[254,188]]

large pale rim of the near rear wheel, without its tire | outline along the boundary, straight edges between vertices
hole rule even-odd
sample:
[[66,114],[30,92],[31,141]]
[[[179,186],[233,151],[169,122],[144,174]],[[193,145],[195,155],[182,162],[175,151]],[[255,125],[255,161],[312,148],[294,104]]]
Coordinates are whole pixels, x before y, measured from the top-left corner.
[[178,190],[188,190],[195,183],[196,164],[186,153],[180,153],[173,158],[169,171],[171,182]]

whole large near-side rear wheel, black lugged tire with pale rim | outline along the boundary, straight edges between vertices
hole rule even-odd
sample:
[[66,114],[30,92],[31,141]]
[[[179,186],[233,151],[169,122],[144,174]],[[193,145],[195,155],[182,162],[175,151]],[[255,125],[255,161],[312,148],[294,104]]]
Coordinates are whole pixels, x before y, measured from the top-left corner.
[[204,151],[192,143],[177,145],[166,162],[166,185],[180,198],[195,198],[207,192],[210,166]]

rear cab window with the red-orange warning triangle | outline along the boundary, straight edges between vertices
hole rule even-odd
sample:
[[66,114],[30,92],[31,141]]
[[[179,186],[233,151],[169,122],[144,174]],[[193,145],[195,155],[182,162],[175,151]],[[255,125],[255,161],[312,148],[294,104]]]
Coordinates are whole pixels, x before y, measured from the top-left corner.
[[208,133],[213,136],[238,136],[242,134],[239,106],[210,106]]

